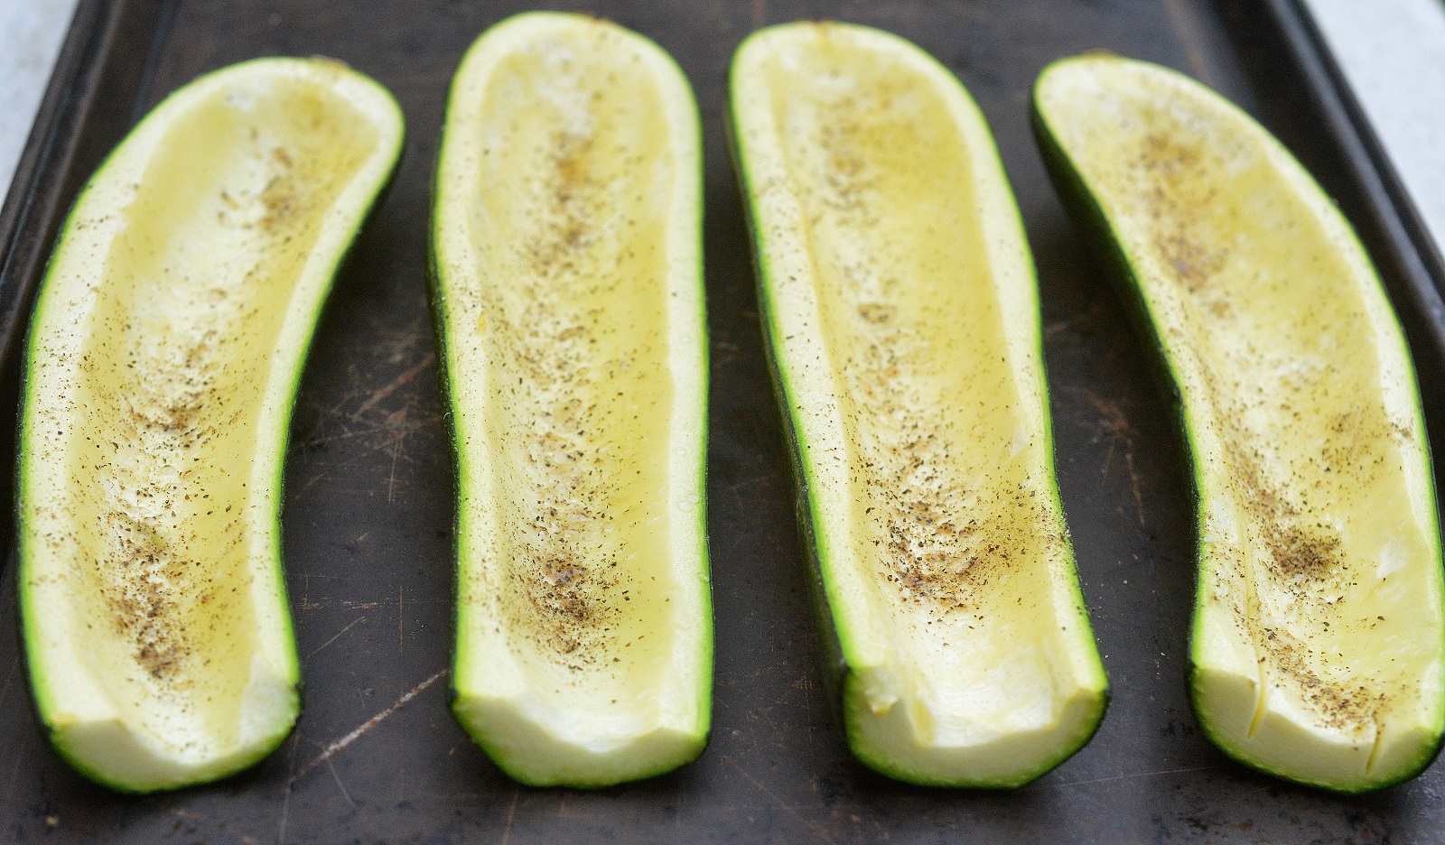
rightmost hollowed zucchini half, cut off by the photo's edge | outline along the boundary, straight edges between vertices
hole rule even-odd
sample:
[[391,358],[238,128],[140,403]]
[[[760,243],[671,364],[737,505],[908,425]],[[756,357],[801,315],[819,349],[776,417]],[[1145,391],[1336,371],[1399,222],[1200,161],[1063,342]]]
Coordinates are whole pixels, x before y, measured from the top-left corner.
[[1319,186],[1204,85],[1064,59],[1035,126],[1178,394],[1198,501],[1194,706],[1263,771],[1418,774],[1445,728],[1435,485],[1379,276]]

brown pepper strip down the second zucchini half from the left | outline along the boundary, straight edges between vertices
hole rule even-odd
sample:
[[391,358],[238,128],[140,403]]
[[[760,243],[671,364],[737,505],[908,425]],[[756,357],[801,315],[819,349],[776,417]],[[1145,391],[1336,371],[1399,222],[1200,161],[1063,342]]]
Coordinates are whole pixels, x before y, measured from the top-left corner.
[[[594,101],[601,97],[592,94]],[[509,636],[551,651],[574,672],[611,666],[633,601],[618,560],[626,549],[616,539],[627,514],[607,506],[618,498],[620,468],[598,446],[616,410],[598,407],[597,397],[608,384],[623,389],[617,368],[633,365],[643,350],[603,360],[598,344],[616,328],[601,311],[574,305],[620,283],[598,267],[600,250],[616,246],[608,227],[618,225],[610,207],[616,182],[597,165],[610,155],[598,147],[607,136],[604,111],[597,126],[551,134],[548,168],[535,188],[546,202],[532,209],[538,225],[516,246],[527,272],[509,279],[520,289],[522,311],[486,306],[504,373],[506,419],[516,420],[503,425],[517,429],[509,436],[522,443],[512,458],[520,484],[506,495],[530,514],[530,521],[503,523],[503,547],[510,549],[504,576],[514,589],[500,607]]]

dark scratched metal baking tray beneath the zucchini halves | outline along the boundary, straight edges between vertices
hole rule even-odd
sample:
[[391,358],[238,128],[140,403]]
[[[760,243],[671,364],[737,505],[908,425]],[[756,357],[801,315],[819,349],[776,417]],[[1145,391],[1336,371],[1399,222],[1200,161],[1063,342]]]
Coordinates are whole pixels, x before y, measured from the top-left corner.
[[[1341,799],[1251,773],[1201,735],[1185,698],[1194,563],[1182,445],[1143,376],[1146,358],[1120,303],[1045,178],[1026,117],[1039,68],[1092,48],[1179,68],[1257,114],[1360,227],[1409,326],[1431,425],[1445,430],[1445,391],[1436,389],[1445,321],[1431,286],[1438,257],[1415,240],[1409,208],[1373,160],[1368,133],[1293,0],[578,7],[669,49],[702,108],[717,599],[707,753],[631,786],[523,789],[447,711],[452,480],[423,293],[428,194],[448,78],[478,32],[522,6],[82,0],[19,188],[0,214],[0,341],[9,344],[0,387],[12,403],[16,326],[59,215],[104,152],[168,91],[256,55],[329,55],[396,92],[409,140],[394,188],[337,285],[296,406],[283,517],[306,680],[295,735],[253,771],[214,786],[153,797],[91,786],[36,728],[7,563],[0,841],[1445,842],[1441,766],[1409,784]],[[721,114],[727,61],[744,35],[821,16],[897,32],[962,77],[997,133],[1036,253],[1064,503],[1114,702],[1087,748],[1017,792],[916,789],[868,773],[850,760],[824,692]],[[0,443],[0,454],[9,446]]]

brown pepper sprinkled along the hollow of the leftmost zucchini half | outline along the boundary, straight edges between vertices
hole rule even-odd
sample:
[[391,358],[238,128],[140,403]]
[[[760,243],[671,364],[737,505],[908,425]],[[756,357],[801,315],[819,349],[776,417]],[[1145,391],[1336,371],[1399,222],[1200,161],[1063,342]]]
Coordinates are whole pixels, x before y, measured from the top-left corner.
[[[269,243],[289,240],[305,186],[285,149],[273,147],[266,163],[270,176],[260,191],[218,192],[220,222]],[[225,374],[246,365],[236,360],[246,334],[237,325],[254,311],[246,287],[259,269],[207,270],[212,274],[162,270],[168,295],[188,302],[185,321],[166,325],[163,338],[143,315],[103,316],[113,331],[101,337],[110,339],[81,361],[94,393],[88,413],[113,420],[104,442],[90,441],[82,454],[95,459],[94,584],[110,627],[171,696],[197,680],[215,631],[244,601],[220,584],[231,584],[244,555],[246,503],[223,500],[207,478],[215,471],[214,448],[250,425]]]

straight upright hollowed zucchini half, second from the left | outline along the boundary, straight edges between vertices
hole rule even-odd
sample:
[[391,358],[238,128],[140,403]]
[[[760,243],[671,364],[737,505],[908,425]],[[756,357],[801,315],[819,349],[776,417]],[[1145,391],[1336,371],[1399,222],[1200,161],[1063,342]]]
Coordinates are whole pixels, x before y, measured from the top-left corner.
[[698,110],[582,14],[481,35],[432,221],[457,452],[452,711],[512,777],[598,787],[707,742]]

